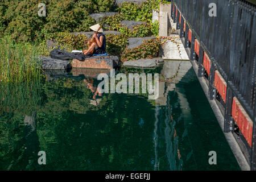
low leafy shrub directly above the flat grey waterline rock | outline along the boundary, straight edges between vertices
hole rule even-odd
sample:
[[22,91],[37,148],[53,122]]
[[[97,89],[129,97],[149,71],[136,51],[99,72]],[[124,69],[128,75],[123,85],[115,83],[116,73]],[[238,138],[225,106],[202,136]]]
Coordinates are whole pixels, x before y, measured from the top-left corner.
[[157,57],[159,56],[160,44],[160,38],[155,38],[143,42],[141,46],[133,49],[126,49],[126,51],[121,55],[121,61],[125,62],[129,60]]

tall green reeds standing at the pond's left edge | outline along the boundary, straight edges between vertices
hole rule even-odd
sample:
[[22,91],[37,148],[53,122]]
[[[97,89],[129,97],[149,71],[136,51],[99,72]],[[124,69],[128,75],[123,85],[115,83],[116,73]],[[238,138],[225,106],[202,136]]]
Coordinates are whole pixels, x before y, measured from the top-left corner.
[[42,69],[36,46],[0,39],[0,83],[40,80]]

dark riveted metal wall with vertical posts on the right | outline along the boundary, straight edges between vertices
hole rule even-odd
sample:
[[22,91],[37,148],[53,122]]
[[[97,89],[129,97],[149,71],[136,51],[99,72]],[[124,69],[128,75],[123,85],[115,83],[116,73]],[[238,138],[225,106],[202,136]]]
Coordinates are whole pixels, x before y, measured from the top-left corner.
[[[192,30],[191,60],[196,59],[193,47],[195,39],[200,42],[200,53],[198,55],[199,68],[202,67],[203,52],[207,52],[213,67],[209,75],[209,93],[212,86],[214,70],[218,70],[228,83],[228,96],[225,107],[224,131],[230,132],[230,98],[237,97],[242,107],[246,110],[254,122],[253,145],[251,147],[251,168],[256,169],[256,119],[255,119],[255,49],[256,49],[256,11],[255,5],[240,0],[174,0],[178,9],[172,12],[175,22],[183,20],[186,26]],[[209,16],[210,3],[217,5],[217,16]],[[173,5],[172,5],[173,6]],[[176,7],[172,8],[176,11]],[[179,13],[180,12],[180,13]],[[184,33],[188,35],[188,28]],[[183,32],[181,32],[183,38]],[[185,44],[187,44],[185,40]],[[185,45],[187,48],[187,45]],[[197,57],[197,58],[198,58]],[[201,75],[201,72],[200,72]],[[211,98],[212,99],[212,98]],[[233,132],[233,131],[232,131]]]

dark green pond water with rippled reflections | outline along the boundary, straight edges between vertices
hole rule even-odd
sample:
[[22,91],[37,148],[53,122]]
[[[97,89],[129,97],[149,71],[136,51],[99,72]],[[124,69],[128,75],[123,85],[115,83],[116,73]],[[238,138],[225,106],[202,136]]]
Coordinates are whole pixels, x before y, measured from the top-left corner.
[[88,84],[73,78],[0,85],[0,169],[240,170],[192,68],[176,76],[162,101],[115,93],[93,104]]

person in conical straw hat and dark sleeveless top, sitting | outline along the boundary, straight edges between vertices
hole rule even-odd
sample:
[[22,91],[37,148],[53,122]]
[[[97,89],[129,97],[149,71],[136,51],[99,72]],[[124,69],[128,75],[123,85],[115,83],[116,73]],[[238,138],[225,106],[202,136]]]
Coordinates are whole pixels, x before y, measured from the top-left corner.
[[82,51],[85,55],[93,54],[93,55],[101,55],[106,53],[106,37],[103,34],[103,29],[100,24],[95,24],[91,26],[90,29],[94,32],[94,41],[91,43],[88,41],[89,48],[87,50]]

